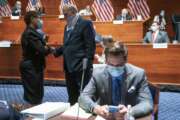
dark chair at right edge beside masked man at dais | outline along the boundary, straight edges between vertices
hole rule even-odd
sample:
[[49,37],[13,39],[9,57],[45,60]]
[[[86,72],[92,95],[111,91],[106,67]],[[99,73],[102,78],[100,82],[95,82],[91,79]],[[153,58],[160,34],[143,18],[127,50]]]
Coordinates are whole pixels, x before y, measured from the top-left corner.
[[172,26],[175,32],[174,40],[180,42],[180,15],[172,15]]

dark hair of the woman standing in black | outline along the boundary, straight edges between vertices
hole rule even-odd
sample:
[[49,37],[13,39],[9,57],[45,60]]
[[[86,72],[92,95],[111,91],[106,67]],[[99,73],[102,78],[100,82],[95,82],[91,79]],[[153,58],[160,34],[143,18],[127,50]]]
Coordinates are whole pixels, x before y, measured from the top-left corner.
[[27,26],[29,26],[34,18],[37,18],[38,14],[36,11],[29,11],[26,13],[24,16],[24,22],[26,23]]

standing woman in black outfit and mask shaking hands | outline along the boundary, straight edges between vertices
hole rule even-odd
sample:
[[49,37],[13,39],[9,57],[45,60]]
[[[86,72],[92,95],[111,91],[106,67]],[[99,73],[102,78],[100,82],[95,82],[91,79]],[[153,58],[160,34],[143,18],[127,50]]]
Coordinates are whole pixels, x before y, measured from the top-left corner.
[[35,11],[29,11],[24,17],[26,28],[21,36],[22,61],[20,73],[24,88],[24,100],[31,105],[40,104],[44,95],[43,81],[45,56],[50,53],[37,29],[41,25]]

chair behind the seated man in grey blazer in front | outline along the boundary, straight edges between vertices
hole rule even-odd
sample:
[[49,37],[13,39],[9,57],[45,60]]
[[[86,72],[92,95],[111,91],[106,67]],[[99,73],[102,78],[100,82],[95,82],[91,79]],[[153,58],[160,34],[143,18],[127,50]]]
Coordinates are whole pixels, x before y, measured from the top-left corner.
[[157,85],[154,85],[150,82],[148,82],[149,84],[149,89],[153,98],[153,115],[154,115],[154,120],[158,120],[158,105],[159,105],[159,93],[160,93],[160,89]]

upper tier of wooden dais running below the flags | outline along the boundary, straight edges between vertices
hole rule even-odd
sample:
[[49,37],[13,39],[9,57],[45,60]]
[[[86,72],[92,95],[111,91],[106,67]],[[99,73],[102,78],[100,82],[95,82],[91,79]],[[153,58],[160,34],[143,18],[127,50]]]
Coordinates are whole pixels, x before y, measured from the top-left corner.
[[[11,20],[9,17],[3,18],[0,24],[0,40],[12,40],[14,43],[20,42],[20,37],[25,29],[23,17],[20,20]],[[66,22],[59,20],[58,16],[44,16],[44,31],[50,36],[50,44],[60,44],[63,41],[64,26]],[[126,43],[142,42],[146,32],[147,21],[128,21],[124,24],[115,25],[112,22],[93,22],[96,31],[102,35],[112,35]]]

